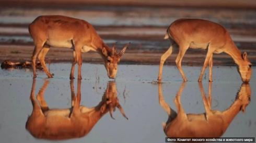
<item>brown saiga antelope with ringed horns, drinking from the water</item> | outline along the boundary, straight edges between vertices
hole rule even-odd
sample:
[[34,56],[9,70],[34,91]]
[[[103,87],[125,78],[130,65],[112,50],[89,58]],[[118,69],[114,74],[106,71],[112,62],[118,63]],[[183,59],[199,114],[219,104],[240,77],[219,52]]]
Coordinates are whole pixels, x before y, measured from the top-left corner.
[[115,78],[118,71],[118,63],[124,54],[126,44],[120,53],[117,53],[113,44],[110,48],[105,44],[92,25],[81,19],[67,16],[52,15],[39,16],[29,25],[29,33],[34,41],[34,51],[31,56],[33,63],[33,78],[37,77],[36,57],[38,56],[46,75],[52,78],[48,68],[45,66],[44,57],[49,51],[50,46],[65,47],[73,50],[73,63],[69,78],[74,79],[74,68],[78,63],[78,79],[82,79],[82,53],[95,51],[103,59],[104,66],[109,78]]

